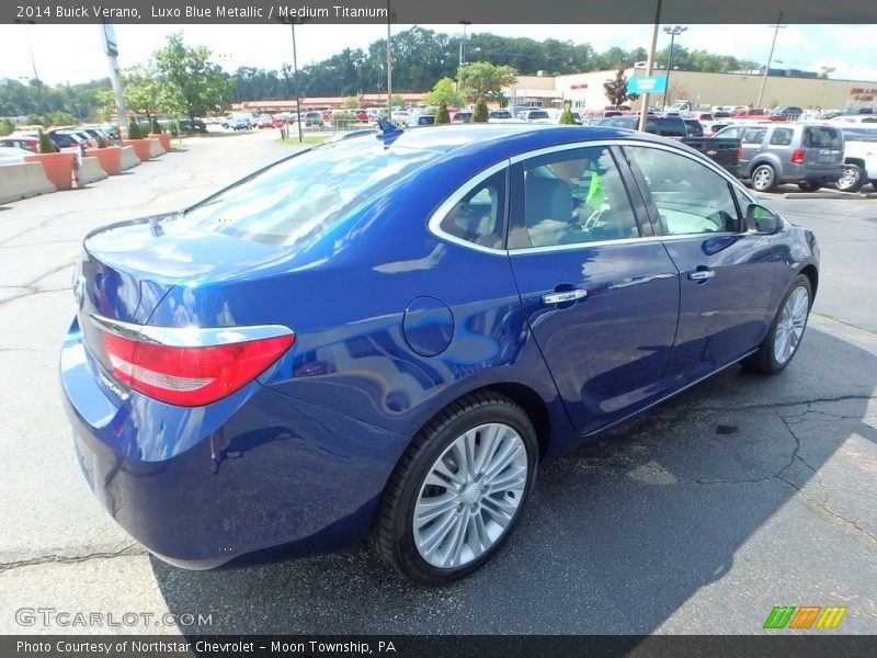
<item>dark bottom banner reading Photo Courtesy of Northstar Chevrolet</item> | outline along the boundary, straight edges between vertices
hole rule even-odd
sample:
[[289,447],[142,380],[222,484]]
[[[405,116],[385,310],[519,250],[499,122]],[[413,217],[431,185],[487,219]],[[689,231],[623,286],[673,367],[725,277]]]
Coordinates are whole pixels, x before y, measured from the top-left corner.
[[58,658],[532,658],[534,656],[677,658],[679,656],[800,658],[877,655],[876,636],[816,632],[790,635],[561,635],[561,636],[0,636],[0,656]]

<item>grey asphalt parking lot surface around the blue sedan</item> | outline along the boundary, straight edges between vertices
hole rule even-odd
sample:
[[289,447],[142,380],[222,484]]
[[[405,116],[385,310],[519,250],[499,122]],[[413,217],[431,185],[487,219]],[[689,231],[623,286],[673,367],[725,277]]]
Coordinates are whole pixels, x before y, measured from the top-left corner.
[[[410,586],[365,547],[207,572],[149,557],[72,455],[56,371],[71,266],[89,230],[203,197],[288,154],[277,136],[189,139],[0,206],[0,633],[751,634],[775,605],[847,606],[843,632],[877,633],[877,198],[864,195],[765,195],[822,249],[784,374],[731,367],[544,465],[517,531],[467,580]],[[65,626],[21,609],[139,616]]]

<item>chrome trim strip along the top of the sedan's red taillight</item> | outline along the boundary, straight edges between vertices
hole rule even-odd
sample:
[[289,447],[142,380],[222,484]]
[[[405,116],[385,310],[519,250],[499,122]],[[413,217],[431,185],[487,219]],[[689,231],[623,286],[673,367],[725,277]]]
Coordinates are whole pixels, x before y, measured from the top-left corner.
[[102,331],[115,333],[129,340],[164,345],[168,348],[207,348],[231,343],[295,337],[295,331],[283,325],[254,325],[249,327],[152,327],[123,322],[89,314],[92,324]]

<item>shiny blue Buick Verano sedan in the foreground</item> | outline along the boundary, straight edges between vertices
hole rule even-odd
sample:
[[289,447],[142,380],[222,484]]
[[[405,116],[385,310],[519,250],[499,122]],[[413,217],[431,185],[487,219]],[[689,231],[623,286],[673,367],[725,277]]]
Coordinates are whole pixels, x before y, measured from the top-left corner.
[[542,461],[734,363],[784,370],[818,266],[668,139],[384,123],[87,236],[64,398],[95,496],[169,563],[368,537],[442,583]]

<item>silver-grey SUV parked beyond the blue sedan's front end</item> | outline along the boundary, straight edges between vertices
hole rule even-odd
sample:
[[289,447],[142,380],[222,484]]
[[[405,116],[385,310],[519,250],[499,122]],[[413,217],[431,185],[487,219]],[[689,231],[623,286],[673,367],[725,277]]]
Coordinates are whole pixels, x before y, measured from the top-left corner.
[[836,182],[843,172],[843,133],[838,127],[756,124],[741,131],[737,175],[752,179],[759,192],[781,183],[798,183],[801,192],[815,192]]

